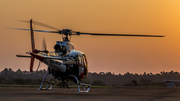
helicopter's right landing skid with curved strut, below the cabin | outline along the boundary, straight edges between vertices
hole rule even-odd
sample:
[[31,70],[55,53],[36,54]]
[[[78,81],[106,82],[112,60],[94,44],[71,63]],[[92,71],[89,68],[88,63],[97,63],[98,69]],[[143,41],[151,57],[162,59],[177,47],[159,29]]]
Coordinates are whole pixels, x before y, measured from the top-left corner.
[[[78,87],[78,93],[80,93],[80,92],[89,92],[91,85],[89,85],[89,84],[84,84],[84,83],[79,83],[79,80],[78,80],[77,77],[74,76],[74,75],[69,75],[69,76],[72,76],[72,77],[74,77],[74,78],[76,79],[76,81],[77,81],[77,87]],[[83,86],[83,91],[80,90],[79,85]],[[88,87],[87,90],[85,89],[85,86]]]

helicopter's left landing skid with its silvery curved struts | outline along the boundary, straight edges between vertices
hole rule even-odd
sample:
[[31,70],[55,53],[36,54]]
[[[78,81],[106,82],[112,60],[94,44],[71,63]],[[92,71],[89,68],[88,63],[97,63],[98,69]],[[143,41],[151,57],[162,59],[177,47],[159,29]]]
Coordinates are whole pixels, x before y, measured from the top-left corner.
[[[52,74],[52,73],[50,73],[50,74]],[[52,88],[52,86],[53,86],[54,83],[51,83],[51,81],[52,81],[53,79],[55,79],[55,78],[52,78],[52,79],[50,79],[49,81],[45,81],[45,78],[46,78],[48,75],[50,75],[50,74],[46,74],[46,75],[43,77],[43,80],[41,81],[41,86],[39,87],[38,90],[48,90],[48,89],[51,89],[51,88]],[[46,88],[42,88],[44,82],[47,82]],[[50,87],[49,87],[49,84],[51,84]]]

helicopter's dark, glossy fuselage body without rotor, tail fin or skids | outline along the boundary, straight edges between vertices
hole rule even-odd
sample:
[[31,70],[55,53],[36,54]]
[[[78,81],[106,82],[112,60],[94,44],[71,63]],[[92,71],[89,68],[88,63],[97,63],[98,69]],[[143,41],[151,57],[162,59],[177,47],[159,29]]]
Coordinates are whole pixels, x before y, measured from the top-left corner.
[[[76,76],[79,80],[85,78],[88,74],[88,64],[86,55],[83,52],[77,50],[71,50],[72,44],[70,42],[60,43],[61,46],[65,46],[67,53],[59,56],[57,52],[49,52],[49,56],[45,53],[30,53],[33,57],[42,61],[48,66],[48,72],[52,73],[55,78],[61,77],[61,79],[71,79],[69,75]],[[70,46],[69,46],[70,45]],[[74,47],[74,46],[73,46]],[[68,52],[71,50],[70,52]]]

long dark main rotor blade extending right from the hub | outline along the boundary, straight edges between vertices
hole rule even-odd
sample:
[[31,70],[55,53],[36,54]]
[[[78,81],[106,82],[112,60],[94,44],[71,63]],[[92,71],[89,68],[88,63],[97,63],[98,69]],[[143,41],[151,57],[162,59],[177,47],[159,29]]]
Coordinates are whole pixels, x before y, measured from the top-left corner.
[[99,35],[99,36],[137,36],[137,37],[164,37],[162,35],[137,35],[137,34],[101,34],[101,33],[81,33],[76,32],[77,35]]

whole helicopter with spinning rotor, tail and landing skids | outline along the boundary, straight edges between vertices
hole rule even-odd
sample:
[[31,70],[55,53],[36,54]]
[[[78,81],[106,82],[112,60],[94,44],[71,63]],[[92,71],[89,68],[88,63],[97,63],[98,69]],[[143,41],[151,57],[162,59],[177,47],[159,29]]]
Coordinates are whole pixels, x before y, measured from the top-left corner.
[[[73,31],[71,29],[62,29],[59,30],[55,27],[32,21],[22,21],[30,23],[30,29],[23,29],[23,28],[11,28],[16,30],[26,30],[30,31],[31,34],[31,47],[32,51],[26,52],[30,56],[25,55],[16,55],[17,57],[25,57],[31,58],[30,62],[30,72],[33,72],[33,64],[35,58],[39,61],[45,63],[47,65],[48,74],[46,74],[42,81],[41,85],[38,90],[43,89],[52,89],[53,87],[53,79],[57,79],[62,81],[58,84],[60,87],[69,87],[66,80],[71,80],[77,84],[78,93],[80,92],[89,92],[91,85],[82,83],[82,79],[86,78],[88,75],[88,61],[86,55],[78,50],[75,50],[74,45],[70,42],[69,37],[72,35],[95,35],[95,36],[136,36],[136,37],[164,37],[162,35],[136,35],[136,34],[103,34],[103,33],[84,33],[79,31]],[[33,30],[33,23],[49,27],[55,29],[56,31],[44,31],[44,30]],[[43,40],[44,50],[38,50],[35,48],[35,41],[34,41],[34,31],[35,32],[45,32],[45,33],[58,33],[61,34],[62,41],[57,41],[54,45],[54,52],[50,52],[46,49],[46,43]],[[39,68],[39,66],[38,66]],[[45,81],[48,75],[52,75],[49,81]],[[47,83],[46,88],[43,88],[44,82]],[[50,86],[50,87],[49,87]],[[83,90],[80,89],[80,86],[83,86]],[[87,87],[87,89],[85,88]]]

